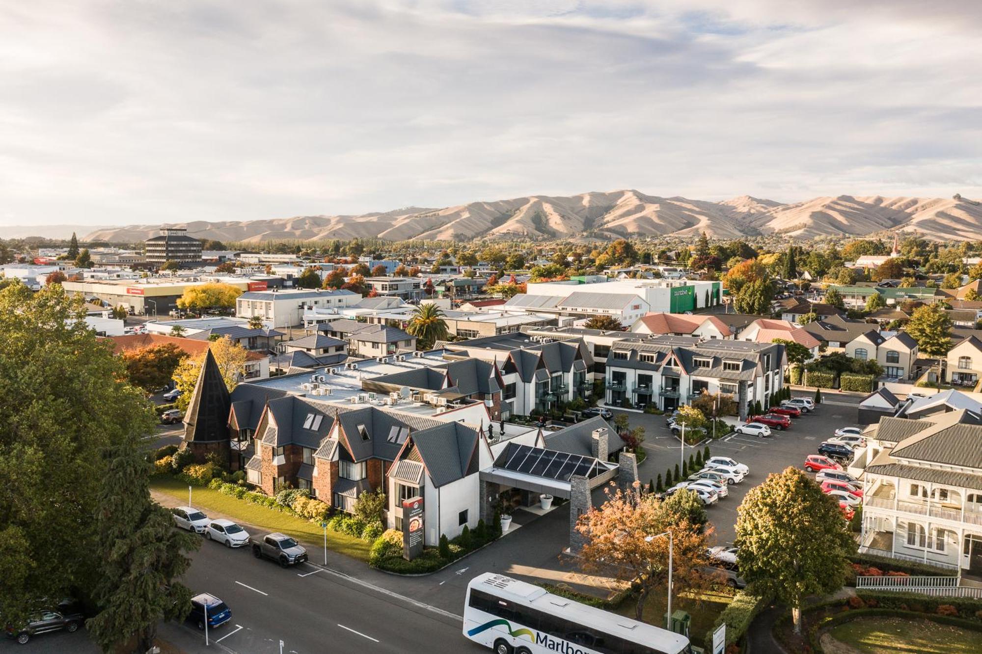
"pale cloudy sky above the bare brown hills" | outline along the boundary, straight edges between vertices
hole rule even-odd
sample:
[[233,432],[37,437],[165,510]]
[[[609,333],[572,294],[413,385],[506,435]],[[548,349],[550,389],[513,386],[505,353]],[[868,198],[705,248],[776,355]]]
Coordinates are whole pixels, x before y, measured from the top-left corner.
[[982,199],[980,28],[970,0],[4,2],[0,225]]

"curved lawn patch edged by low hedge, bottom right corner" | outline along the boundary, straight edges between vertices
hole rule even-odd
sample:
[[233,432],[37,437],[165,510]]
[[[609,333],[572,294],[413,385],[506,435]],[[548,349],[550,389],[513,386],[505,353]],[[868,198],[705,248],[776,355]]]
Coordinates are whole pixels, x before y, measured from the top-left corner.
[[927,620],[857,618],[833,627],[829,634],[860,652],[888,654],[976,654],[982,652],[982,632]]

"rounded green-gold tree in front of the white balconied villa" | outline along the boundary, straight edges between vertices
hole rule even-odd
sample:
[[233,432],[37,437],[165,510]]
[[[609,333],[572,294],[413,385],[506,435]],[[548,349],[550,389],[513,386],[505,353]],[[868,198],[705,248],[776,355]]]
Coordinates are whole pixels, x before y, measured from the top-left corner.
[[804,598],[841,588],[856,549],[838,502],[793,467],[747,492],[736,510],[736,541],[743,578],[791,605],[796,632]]

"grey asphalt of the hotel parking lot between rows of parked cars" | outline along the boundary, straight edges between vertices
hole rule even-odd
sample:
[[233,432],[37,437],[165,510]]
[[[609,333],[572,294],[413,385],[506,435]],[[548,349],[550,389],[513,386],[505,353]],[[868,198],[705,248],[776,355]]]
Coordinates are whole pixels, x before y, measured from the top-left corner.
[[[615,410],[615,413],[619,411]],[[647,483],[661,474],[664,478],[668,468],[675,469],[680,464],[680,442],[665,426],[665,416],[644,413],[627,413],[630,425],[645,429],[644,450],[647,459],[638,465],[638,476]],[[789,465],[801,467],[807,455],[815,454],[818,445],[833,436],[839,427],[860,426],[856,422],[854,404],[847,404],[836,398],[819,405],[813,412],[791,418],[791,428],[785,431],[772,429],[770,438],[755,438],[733,434],[715,441],[704,443],[698,448],[684,448],[684,458],[688,461],[696,449],[702,451],[709,445],[713,456],[731,457],[737,463],[750,468],[749,475],[738,484],[729,487],[730,494],[715,505],[707,508],[710,521],[716,527],[719,544],[732,543],[736,532],[736,507],[743,496],[771,472],[780,472]]]

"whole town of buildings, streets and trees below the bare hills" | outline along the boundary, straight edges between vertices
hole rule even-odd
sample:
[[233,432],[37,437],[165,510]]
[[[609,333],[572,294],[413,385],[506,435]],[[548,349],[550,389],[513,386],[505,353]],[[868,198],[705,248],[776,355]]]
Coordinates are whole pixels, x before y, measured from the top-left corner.
[[51,557],[8,634],[804,651],[902,615],[973,642],[982,246],[775,245],[4,242],[10,533]]

